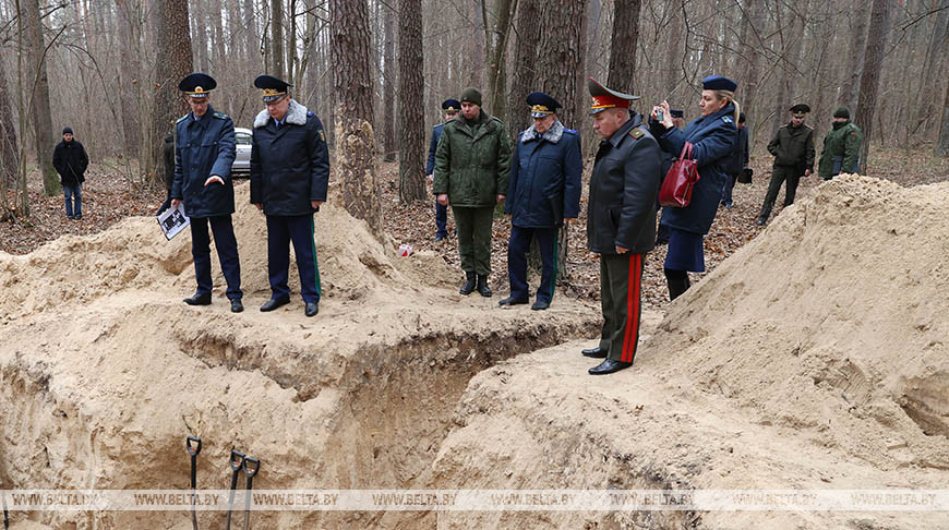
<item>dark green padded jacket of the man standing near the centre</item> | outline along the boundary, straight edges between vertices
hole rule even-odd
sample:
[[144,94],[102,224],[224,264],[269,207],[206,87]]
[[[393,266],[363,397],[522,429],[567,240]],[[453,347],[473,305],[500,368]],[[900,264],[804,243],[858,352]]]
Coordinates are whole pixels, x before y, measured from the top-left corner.
[[435,150],[432,193],[452,206],[493,206],[507,193],[510,142],[504,123],[484,110],[473,124],[459,115],[445,123]]

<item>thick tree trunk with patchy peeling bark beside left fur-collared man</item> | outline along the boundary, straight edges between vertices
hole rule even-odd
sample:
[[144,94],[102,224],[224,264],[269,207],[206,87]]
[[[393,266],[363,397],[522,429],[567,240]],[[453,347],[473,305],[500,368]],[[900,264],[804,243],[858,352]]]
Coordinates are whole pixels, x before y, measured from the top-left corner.
[[372,64],[365,0],[329,0],[333,75],[337,97],[336,166],[343,205],[382,236],[382,205],[373,155]]

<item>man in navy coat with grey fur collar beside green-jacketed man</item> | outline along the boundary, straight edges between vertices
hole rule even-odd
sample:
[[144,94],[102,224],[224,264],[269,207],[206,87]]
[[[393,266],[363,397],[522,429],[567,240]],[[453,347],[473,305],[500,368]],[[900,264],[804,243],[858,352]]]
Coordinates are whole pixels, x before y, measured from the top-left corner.
[[510,296],[501,305],[527,303],[527,253],[537,240],[543,263],[532,310],[545,310],[553,300],[557,276],[557,232],[580,210],[584,161],[580,135],[557,119],[561,104],[542,92],[527,96],[533,124],[517,135],[504,212],[510,215],[507,278]]

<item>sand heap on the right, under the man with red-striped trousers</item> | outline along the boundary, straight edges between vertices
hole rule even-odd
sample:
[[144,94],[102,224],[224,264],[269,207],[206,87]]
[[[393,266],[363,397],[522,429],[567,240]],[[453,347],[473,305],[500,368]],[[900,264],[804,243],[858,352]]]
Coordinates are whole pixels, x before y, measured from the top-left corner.
[[[949,184],[842,177],[676,300],[633,369],[587,342],[470,383],[430,483],[945,489]],[[441,514],[439,528],[946,528],[945,513]]]

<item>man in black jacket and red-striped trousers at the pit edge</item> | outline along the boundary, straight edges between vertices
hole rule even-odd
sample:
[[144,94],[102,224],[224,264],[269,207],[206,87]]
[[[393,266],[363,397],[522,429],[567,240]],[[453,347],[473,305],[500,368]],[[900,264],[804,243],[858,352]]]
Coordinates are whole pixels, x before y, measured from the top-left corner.
[[587,248],[600,254],[603,330],[585,357],[605,359],[591,375],[633,364],[639,341],[642,258],[656,241],[656,206],[662,153],[629,101],[638,96],[588,82],[590,113],[602,141],[597,150],[587,207]]

